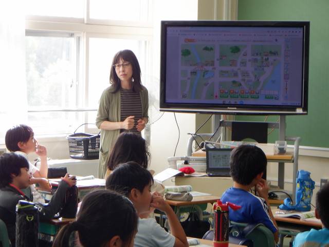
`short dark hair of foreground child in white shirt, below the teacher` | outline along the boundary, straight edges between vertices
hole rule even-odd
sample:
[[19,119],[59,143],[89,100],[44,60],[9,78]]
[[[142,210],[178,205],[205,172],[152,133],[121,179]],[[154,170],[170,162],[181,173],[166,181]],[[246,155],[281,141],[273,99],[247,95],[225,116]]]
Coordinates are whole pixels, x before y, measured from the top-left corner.
[[120,164],[106,179],[106,189],[112,189],[128,197],[132,189],[143,192],[145,186],[153,184],[152,174],[136,162]]

